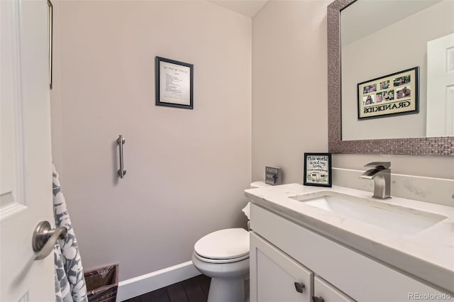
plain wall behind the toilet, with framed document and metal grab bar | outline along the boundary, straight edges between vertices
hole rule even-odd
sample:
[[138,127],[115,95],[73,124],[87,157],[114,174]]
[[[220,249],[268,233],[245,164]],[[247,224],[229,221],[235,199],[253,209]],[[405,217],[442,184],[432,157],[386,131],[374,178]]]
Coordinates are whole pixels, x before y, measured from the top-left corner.
[[[245,227],[250,41],[250,18],[206,1],[57,1],[53,155],[85,269],[130,279]],[[194,64],[194,110],[155,106],[156,55]]]

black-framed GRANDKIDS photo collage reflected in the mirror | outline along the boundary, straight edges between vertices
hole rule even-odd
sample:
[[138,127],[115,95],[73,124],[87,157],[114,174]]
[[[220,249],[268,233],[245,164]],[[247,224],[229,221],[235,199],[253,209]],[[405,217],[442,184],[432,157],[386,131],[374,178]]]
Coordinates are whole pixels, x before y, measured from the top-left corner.
[[358,83],[358,120],[419,113],[419,66]]

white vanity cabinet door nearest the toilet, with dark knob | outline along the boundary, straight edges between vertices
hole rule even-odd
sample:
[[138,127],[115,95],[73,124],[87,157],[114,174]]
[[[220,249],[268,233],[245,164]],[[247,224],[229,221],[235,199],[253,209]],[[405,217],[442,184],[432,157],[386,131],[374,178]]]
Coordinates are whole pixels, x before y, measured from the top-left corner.
[[250,302],[309,302],[314,273],[250,232]]

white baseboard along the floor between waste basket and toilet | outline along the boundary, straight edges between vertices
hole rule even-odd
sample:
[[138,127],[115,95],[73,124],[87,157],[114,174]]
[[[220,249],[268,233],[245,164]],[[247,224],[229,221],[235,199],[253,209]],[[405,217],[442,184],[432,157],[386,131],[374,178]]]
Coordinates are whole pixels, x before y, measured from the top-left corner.
[[118,293],[116,301],[125,301],[135,296],[143,295],[156,289],[175,284],[194,276],[200,272],[194,267],[192,261],[166,267],[156,272],[136,276],[134,278],[118,283]]

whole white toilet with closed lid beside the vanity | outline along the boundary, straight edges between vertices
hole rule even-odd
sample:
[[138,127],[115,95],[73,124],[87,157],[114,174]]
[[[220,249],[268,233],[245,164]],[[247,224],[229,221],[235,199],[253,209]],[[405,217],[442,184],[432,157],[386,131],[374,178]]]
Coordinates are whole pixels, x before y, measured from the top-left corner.
[[[250,184],[251,188],[260,186],[268,185],[262,181]],[[249,274],[247,230],[228,228],[201,237],[194,245],[192,263],[199,272],[211,277],[208,302],[245,301],[245,277]]]

